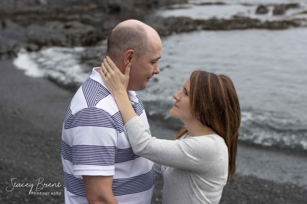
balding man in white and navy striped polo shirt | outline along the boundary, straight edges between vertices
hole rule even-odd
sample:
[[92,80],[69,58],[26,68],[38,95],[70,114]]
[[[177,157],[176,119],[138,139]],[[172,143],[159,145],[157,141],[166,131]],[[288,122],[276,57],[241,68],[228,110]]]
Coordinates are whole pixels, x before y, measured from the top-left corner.
[[[161,49],[157,32],[137,20],[118,24],[108,37],[107,55],[121,72],[131,63],[127,92],[148,128],[136,91],[159,74]],[[149,204],[154,188],[153,162],[133,153],[115,99],[99,69],[93,68],[66,113],[61,140],[65,203]]]

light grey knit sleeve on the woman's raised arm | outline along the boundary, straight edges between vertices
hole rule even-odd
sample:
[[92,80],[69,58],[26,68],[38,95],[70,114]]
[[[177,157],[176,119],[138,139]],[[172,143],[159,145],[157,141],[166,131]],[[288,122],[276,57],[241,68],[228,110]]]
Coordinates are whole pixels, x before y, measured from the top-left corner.
[[208,135],[181,140],[151,137],[138,116],[125,126],[125,133],[135,154],[161,165],[178,169],[206,172],[216,159],[217,141]]

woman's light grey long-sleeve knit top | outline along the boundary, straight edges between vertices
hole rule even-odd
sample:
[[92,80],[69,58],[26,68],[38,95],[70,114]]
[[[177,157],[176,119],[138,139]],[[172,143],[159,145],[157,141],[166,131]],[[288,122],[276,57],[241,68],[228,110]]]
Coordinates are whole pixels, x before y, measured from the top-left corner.
[[219,135],[165,140],[151,137],[138,116],[125,126],[134,154],[155,162],[162,204],[219,203],[228,176],[228,151]]

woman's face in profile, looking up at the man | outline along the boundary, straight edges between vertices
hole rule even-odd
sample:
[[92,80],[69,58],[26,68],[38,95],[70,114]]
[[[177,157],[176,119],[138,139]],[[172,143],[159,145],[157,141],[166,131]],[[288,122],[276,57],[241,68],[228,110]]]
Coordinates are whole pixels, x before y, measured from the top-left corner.
[[178,93],[174,94],[175,104],[170,109],[169,114],[173,117],[181,119],[184,123],[190,121],[190,78],[185,82],[183,88]]

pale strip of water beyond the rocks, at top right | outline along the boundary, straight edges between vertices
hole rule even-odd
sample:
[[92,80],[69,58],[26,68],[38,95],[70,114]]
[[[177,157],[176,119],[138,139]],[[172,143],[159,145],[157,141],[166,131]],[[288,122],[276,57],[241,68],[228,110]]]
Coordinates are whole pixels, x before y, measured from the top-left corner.
[[[204,2],[223,2],[224,5],[200,5]],[[300,8],[288,9],[285,15],[273,15],[274,5],[288,3],[299,3]],[[266,5],[269,12],[267,14],[256,14],[258,6]],[[177,9],[175,9],[177,8]],[[190,0],[187,4],[178,4],[160,9],[156,12],[157,15],[163,17],[190,17],[193,19],[210,19],[210,18],[224,18],[229,19],[234,15],[244,16],[250,18],[257,18],[259,20],[290,20],[293,18],[307,18],[307,14],[300,14],[307,10],[306,0]]]

